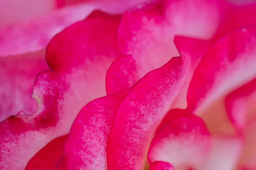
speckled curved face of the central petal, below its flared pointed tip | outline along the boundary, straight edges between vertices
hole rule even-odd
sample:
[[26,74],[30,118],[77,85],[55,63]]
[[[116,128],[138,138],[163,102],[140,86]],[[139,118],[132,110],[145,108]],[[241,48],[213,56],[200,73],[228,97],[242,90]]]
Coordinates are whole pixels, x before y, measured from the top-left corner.
[[109,136],[108,169],[143,169],[151,137],[177,96],[182,67],[182,59],[173,58],[131,88],[119,106]]

